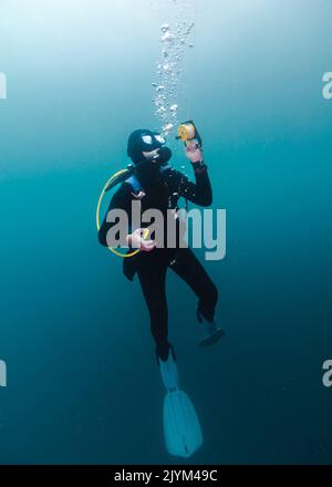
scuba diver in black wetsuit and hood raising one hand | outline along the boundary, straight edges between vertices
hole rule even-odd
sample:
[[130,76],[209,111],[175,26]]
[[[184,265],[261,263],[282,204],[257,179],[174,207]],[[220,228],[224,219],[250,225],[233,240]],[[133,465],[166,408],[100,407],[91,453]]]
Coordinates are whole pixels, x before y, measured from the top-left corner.
[[[162,211],[164,221],[167,221],[167,210],[172,209],[177,219],[176,231],[180,240],[181,226],[179,218],[177,218],[178,199],[184,197],[186,200],[203,207],[210,206],[212,203],[212,190],[207,166],[203,158],[200,137],[198,137],[198,141],[193,139],[185,143],[185,154],[191,163],[195,175],[195,183],[193,183],[187,176],[169,165],[172,151],[165,146],[165,139],[160,134],[148,129],[133,132],[127,143],[127,155],[134,164],[134,174],[125,179],[113,195],[108,211],[113,209],[125,210],[131,224],[133,200],[139,200],[142,213],[152,208]],[[114,225],[114,222],[107,221],[106,217],[104,218],[98,230],[98,240],[103,246],[107,247],[107,232]],[[197,319],[200,323],[205,322],[207,328],[207,335],[200,342],[201,346],[211,345],[224,336],[222,330],[215,322],[218,290],[188,246],[183,247],[176,240],[175,248],[168,248],[167,244],[159,247],[153,235],[145,239],[144,230],[147,227],[148,224],[145,227],[142,224],[142,228],[131,230],[132,232],[126,236],[129,249],[136,248],[139,249],[139,252],[134,257],[124,259],[123,270],[129,280],[133,280],[135,273],[137,273],[149,312],[151,330],[156,344],[156,355],[164,385],[167,392],[177,391],[183,394],[180,398],[178,397],[178,401],[181,402],[180,407],[184,407],[184,403],[189,402],[189,400],[184,397],[185,394],[178,390],[176,354],[174,346],[168,341],[167,270],[172,269],[179,276],[198,298]],[[167,228],[165,228],[165,242],[167,242]],[[174,403],[175,395],[169,395],[169,401],[170,397],[173,397]],[[195,415],[190,402],[187,406],[191,412],[191,416]],[[169,405],[169,407],[172,406]],[[183,412],[181,417],[185,416],[186,414]],[[172,418],[169,418],[169,422],[172,422]],[[195,418],[190,427],[191,433],[189,432],[189,436],[194,434],[193,429],[196,428],[196,446],[191,445],[190,447],[190,439],[188,439],[181,456],[189,456],[194,449],[197,449],[198,443],[201,443],[201,439],[197,439],[197,435],[199,437],[201,434],[199,433],[199,425],[196,424],[195,426]],[[174,432],[173,436],[176,436]],[[181,441],[179,438],[179,442]],[[172,437],[168,438],[169,442],[172,443]],[[184,448],[184,445],[180,448]],[[168,449],[172,450],[172,446]]]

